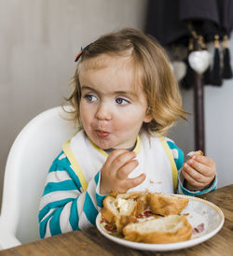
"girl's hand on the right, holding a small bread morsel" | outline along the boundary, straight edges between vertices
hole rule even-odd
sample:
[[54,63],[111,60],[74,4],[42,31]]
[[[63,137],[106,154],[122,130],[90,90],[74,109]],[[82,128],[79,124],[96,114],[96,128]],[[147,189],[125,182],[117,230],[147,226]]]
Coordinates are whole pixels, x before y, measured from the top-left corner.
[[183,165],[183,176],[187,181],[185,188],[189,191],[207,187],[216,175],[216,164],[207,156],[193,155]]

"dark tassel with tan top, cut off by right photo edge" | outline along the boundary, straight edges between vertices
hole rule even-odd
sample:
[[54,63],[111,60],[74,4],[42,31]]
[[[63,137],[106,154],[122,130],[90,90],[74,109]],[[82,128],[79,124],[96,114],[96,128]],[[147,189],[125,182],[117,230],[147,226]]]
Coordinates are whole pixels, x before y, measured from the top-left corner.
[[223,72],[222,78],[230,79],[232,78],[232,69],[230,65],[230,53],[228,47],[228,36],[224,36],[223,42]]

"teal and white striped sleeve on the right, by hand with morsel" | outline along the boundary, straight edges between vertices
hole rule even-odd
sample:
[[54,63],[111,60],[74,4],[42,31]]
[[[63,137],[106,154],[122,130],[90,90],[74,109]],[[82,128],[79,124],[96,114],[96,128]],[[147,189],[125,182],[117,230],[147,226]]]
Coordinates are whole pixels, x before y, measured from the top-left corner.
[[216,184],[217,184],[217,176],[214,178],[214,180],[212,181],[212,183],[207,187],[204,188],[201,191],[188,191],[187,189],[185,189],[184,186],[184,182],[185,182],[185,178],[182,174],[182,167],[184,164],[184,153],[182,151],[182,149],[179,149],[176,144],[169,138],[166,138],[166,141],[171,149],[173,158],[174,158],[174,162],[176,164],[177,170],[178,170],[178,188],[177,188],[177,193],[180,194],[185,194],[185,195],[191,195],[191,196],[197,196],[203,193],[207,193],[207,192],[212,192],[213,190],[216,189]]

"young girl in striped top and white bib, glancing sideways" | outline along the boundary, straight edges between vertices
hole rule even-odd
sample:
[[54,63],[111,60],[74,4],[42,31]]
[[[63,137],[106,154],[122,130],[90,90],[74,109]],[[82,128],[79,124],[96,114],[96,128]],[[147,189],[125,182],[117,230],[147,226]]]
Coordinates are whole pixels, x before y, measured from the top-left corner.
[[198,195],[215,189],[212,159],[196,156],[183,166],[182,150],[164,137],[175,121],[185,119],[185,111],[156,40],[125,29],[100,37],[76,61],[68,100],[80,129],[48,171],[41,237],[95,225],[112,191]]

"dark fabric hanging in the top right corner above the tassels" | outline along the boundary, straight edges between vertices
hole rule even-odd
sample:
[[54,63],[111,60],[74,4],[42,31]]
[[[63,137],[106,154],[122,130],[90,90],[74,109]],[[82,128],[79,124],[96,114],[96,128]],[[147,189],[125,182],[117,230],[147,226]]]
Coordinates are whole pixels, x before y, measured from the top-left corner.
[[233,27],[232,0],[148,0],[145,32],[160,44],[187,45],[192,23],[196,32],[212,41],[229,36]]

